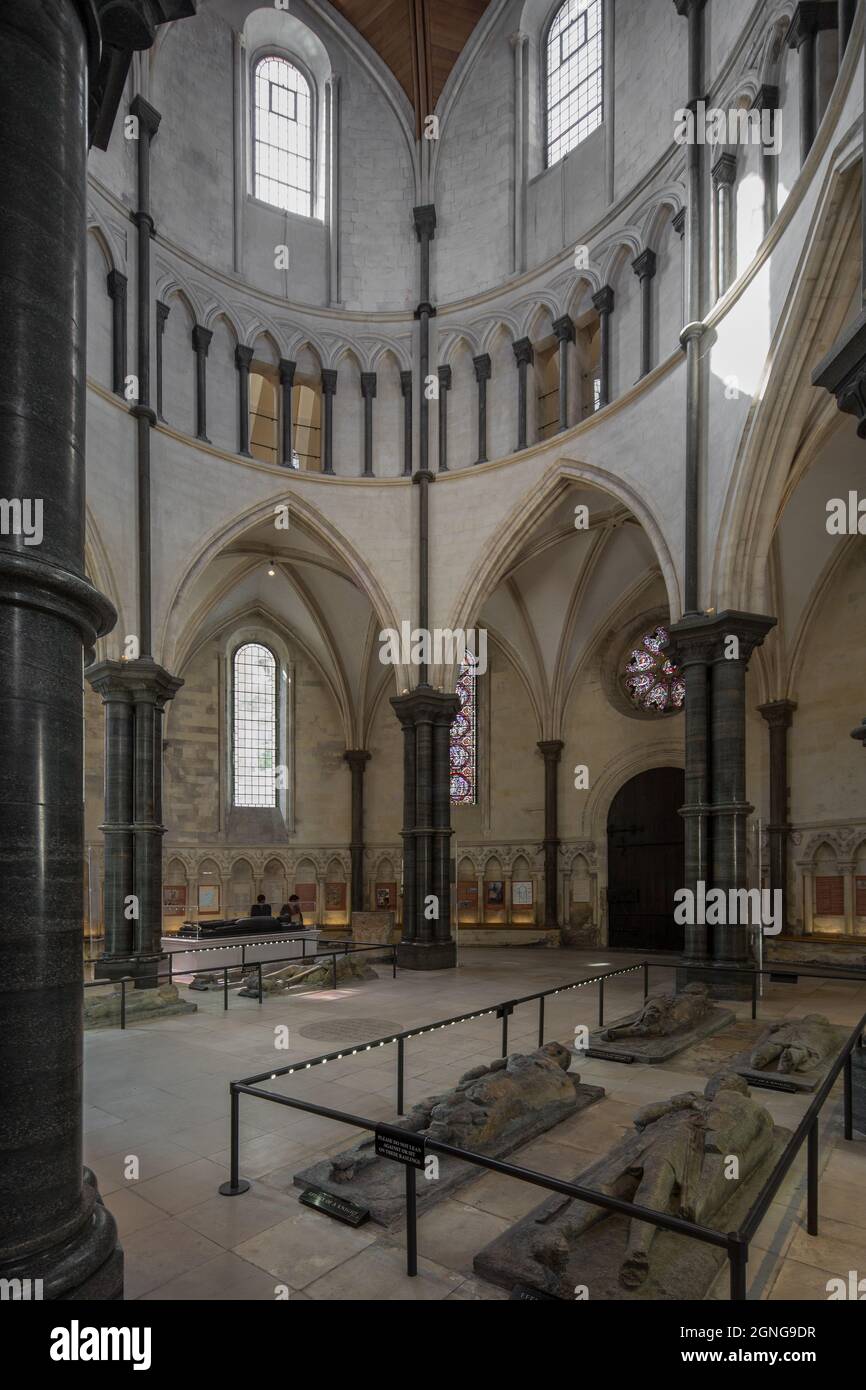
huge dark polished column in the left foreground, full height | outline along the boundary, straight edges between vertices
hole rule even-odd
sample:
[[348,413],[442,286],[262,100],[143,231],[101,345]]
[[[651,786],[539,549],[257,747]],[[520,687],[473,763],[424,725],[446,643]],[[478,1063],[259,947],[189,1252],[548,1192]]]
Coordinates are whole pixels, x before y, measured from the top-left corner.
[[67,1301],[122,1297],[117,1227],[82,1166],[81,669],[115,620],[83,564],[86,118],[106,140],[113,118],[88,72],[113,44],[122,85],[129,49],[153,42],[165,3],[129,8],[129,26],[90,6],[0,10],[1,491],[39,500],[43,524],[39,543],[0,535],[0,1277]]

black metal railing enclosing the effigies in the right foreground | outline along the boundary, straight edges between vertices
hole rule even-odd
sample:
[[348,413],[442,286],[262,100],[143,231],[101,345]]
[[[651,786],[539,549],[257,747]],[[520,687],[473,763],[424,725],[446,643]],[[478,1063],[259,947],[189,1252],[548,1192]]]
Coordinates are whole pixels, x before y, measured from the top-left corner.
[[[371,1042],[359,1042],[357,1047],[345,1047],[339,1052],[328,1052],[322,1056],[310,1058],[304,1062],[295,1062],[291,1066],[282,1066],[277,1070],[263,1072],[257,1076],[246,1077],[240,1081],[229,1083],[229,1126],[231,1126],[231,1176],[227,1183],[222,1183],[218,1191],[224,1197],[239,1197],[240,1194],[249,1191],[250,1184],[246,1179],[240,1177],[240,1097],[249,1095],[256,1099],[270,1101],[274,1105],[285,1105],[289,1109],[303,1111],[307,1115],[317,1115],[321,1119],[336,1120],[338,1123],[349,1125],[353,1129],[367,1130],[371,1133],[382,1134],[395,1140],[405,1140],[406,1130],[395,1125],[382,1125],[377,1120],[371,1120],[361,1115],[352,1115],[348,1111],[338,1111],[328,1105],[320,1105],[314,1101],[302,1101],[296,1097],[282,1095],[277,1091],[261,1090],[261,1083],[267,1080],[275,1080],[281,1076],[292,1076],[296,1072],[307,1072],[314,1066],[324,1065],[325,1062],[339,1061],[348,1056],[356,1056],[361,1052],[370,1052],[374,1048],[385,1047],[388,1044],[396,1044],[398,1047],[398,1115],[403,1115],[403,1081],[405,1081],[405,1047],[406,1041],[413,1037],[421,1037],[424,1033],[434,1033],[439,1029],[455,1027],[457,1023],[466,1023],[473,1019],[491,1017],[495,1016],[502,1019],[502,1056],[507,1055],[507,1020],[514,1012],[514,1009],[521,1004],[530,1004],[538,1001],[538,1047],[544,1045],[545,1033],[545,999],[556,994],[566,994],[571,990],[581,990],[592,984],[599,987],[598,999],[598,1019],[599,1027],[605,1022],[605,981],[623,974],[631,974],[637,970],[644,972],[644,998],[646,999],[649,992],[649,970],[653,967],[659,969],[676,969],[674,962],[657,962],[657,960],[642,960],[632,966],[626,966],[619,970],[607,970],[603,974],[589,976],[584,980],[570,981],[567,984],[560,984],[549,990],[541,990],[535,994],[523,995],[518,999],[507,999],[500,1004],[484,1009],[474,1009],[468,1013],[456,1015],[452,1019],[442,1019],[436,1023],[423,1024],[421,1027],[407,1029],[403,1033],[393,1033],[389,1037],[375,1038]],[[756,1017],[758,1011],[758,977],[762,974],[790,974],[790,976],[806,976],[812,979],[851,979],[859,983],[866,981],[866,972],[847,972],[845,974],[833,973],[824,974],[817,970],[780,970],[776,969],[726,969],[726,974],[749,974],[753,976],[752,980],[752,1017]],[[808,1144],[808,1163],[806,1163],[806,1229],[810,1236],[817,1234],[817,1219],[819,1219],[819,1119],[823,1105],[830,1095],[835,1081],[838,1080],[840,1072],[844,1069],[844,1137],[847,1141],[853,1138],[853,1084],[852,1084],[852,1054],[855,1047],[863,1045],[863,1033],[866,1031],[866,1013],[860,1017],[859,1023],[849,1034],[847,1042],[841,1048],[838,1056],[835,1058],[833,1066],[828,1069],[822,1086],[819,1087],[816,1095],[809,1104],[803,1118],[801,1119],[796,1130],[785,1144],[783,1152],[776,1161],[769,1177],[765,1182],[760,1195],[752,1204],[748,1213],[742,1218],[740,1230],[728,1232],[727,1234],[714,1230],[710,1226],[703,1226],[699,1222],[687,1220],[681,1216],[673,1216],[670,1212],[655,1211],[649,1207],[641,1207],[637,1202],[630,1202],[624,1198],[610,1197],[606,1193],[595,1191],[591,1187],[584,1187],[580,1183],[567,1183],[562,1179],[549,1177],[546,1173],[538,1173],[534,1169],[523,1168],[518,1163],[509,1163],[503,1159],[488,1158],[485,1154],[477,1154],[470,1150],[459,1148],[453,1144],[445,1144],[438,1140],[425,1138],[424,1147],[425,1152],[442,1154],[448,1158],[461,1159],[475,1168],[487,1169],[492,1173],[500,1173],[505,1177],[513,1177],[517,1182],[530,1183],[534,1187],[542,1187],[550,1193],[559,1193],[564,1197],[574,1198],[575,1201],[588,1202],[592,1207],[599,1207],[603,1211],[613,1212],[621,1216],[628,1216],[632,1220],[646,1222],[660,1230],[673,1232],[678,1236],[687,1236],[692,1240],[701,1241],[706,1245],[714,1245],[717,1250],[723,1250],[728,1261],[730,1273],[730,1297],[731,1301],[745,1301],[748,1298],[746,1289],[746,1268],[749,1259],[749,1244],[760,1226],[760,1222],[766,1216],[766,1212],[773,1201],[776,1193],[778,1191],[785,1175],[791,1169],[794,1159],[799,1154],[803,1143]],[[410,1277],[414,1277],[418,1272],[418,1240],[417,1240],[417,1188],[416,1188],[416,1169],[413,1166],[406,1166],[406,1272]]]

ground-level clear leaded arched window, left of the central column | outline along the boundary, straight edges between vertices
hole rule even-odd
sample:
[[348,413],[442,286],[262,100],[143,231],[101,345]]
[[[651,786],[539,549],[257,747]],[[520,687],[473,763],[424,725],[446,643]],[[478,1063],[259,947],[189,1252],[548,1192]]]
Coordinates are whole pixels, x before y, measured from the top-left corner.
[[245,642],[232,662],[235,806],[277,805],[277,660],[261,642]]

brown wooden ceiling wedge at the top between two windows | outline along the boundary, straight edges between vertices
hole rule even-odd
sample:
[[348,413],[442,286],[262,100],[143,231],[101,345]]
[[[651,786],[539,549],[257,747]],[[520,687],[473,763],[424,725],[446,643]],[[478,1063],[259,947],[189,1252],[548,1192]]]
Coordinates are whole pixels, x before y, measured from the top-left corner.
[[420,133],[489,0],[332,0],[388,64]]

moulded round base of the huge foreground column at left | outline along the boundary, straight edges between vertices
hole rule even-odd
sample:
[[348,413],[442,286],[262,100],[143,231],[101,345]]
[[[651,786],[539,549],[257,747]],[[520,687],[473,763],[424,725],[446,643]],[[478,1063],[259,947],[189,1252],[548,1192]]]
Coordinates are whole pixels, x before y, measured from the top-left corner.
[[89,1169],[85,1169],[82,1197],[89,1219],[71,1240],[0,1265],[0,1279],[21,1282],[24,1301],[122,1300],[124,1252],[117,1243],[117,1225],[111,1212],[103,1207],[96,1179]]

